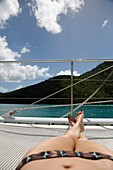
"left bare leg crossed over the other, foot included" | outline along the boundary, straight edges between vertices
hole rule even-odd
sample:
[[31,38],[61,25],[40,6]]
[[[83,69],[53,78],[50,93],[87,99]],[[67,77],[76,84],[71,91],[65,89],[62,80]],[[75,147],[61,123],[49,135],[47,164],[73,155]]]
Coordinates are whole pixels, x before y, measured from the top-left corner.
[[50,151],[50,150],[74,151],[76,141],[80,138],[80,133],[82,131],[83,117],[84,117],[83,113],[78,115],[76,124],[74,124],[74,126],[71,129],[69,129],[65,133],[65,135],[50,138],[40,144],[36,144],[31,150],[29,150],[26,153],[25,157],[30,154],[34,154],[42,151]]

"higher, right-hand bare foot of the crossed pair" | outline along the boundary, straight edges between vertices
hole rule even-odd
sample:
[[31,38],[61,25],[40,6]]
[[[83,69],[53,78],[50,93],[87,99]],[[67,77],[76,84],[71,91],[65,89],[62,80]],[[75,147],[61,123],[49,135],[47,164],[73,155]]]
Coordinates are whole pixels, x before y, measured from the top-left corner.
[[78,112],[76,115],[76,122],[80,124],[81,132],[84,131],[83,119],[84,119],[84,112],[83,111]]

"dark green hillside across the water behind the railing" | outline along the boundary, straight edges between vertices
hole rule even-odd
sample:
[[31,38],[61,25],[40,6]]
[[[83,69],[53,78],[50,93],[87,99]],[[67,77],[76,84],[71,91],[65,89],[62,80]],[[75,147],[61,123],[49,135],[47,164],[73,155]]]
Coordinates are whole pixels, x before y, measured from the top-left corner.
[[[98,65],[96,68],[92,69],[89,72],[84,73],[79,77],[74,77],[74,84],[79,82],[86,77],[89,77],[105,68],[108,68],[113,65],[113,62],[105,62]],[[94,77],[91,77],[79,84],[74,85],[74,103],[83,102],[87,99],[110,75],[113,69],[106,70]],[[45,98],[63,88],[70,86],[71,83],[70,76],[56,76],[45,80],[41,83],[28,86],[19,90],[8,93],[0,93],[0,103],[32,103]],[[113,75],[107,80],[104,86],[100,91],[93,96],[90,101],[98,100],[108,100],[112,99],[113,96]],[[40,101],[39,103],[47,104],[64,104],[70,103],[71,93],[70,88],[63,90],[60,93],[57,93],[49,98]]]

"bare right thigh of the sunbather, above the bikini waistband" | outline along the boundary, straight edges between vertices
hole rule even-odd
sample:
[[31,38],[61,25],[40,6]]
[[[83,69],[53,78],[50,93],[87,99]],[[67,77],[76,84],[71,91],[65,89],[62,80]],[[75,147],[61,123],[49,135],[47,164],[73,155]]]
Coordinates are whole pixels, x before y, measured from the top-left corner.
[[113,152],[110,151],[106,146],[97,143],[95,141],[89,141],[89,140],[78,140],[76,142],[75,150],[81,152],[100,152],[103,154],[108,154],[113,156]]

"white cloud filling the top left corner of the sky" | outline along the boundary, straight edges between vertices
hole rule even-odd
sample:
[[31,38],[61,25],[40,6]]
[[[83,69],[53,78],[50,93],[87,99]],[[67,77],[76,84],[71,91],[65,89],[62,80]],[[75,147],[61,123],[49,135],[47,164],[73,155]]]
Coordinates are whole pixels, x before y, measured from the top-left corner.
[[7,20],[12,16],[18,16],[21,11],[18,0],[0,1],[0,28],[4,28]]

